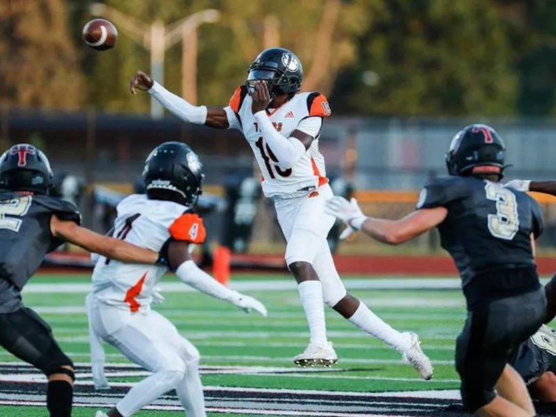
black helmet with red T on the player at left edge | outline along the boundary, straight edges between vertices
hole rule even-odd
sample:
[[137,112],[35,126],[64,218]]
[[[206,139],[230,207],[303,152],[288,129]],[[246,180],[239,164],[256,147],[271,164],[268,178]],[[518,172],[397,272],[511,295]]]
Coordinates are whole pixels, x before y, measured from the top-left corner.
[[0,156],[0,189],[47,195],[51,186],[50,162],[40,149],[19,143]]

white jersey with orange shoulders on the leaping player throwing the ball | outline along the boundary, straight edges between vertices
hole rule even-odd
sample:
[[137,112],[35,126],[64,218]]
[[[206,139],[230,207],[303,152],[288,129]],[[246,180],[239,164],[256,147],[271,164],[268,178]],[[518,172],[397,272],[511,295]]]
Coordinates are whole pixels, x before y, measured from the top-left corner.
[[242,85],[237,88],[229,106],[224,110],[230,127],[240,130],[253,149],[263,174],[264,195],[294,197],[310,193],[327,183],[325,159],[318,150],[322,118],[331,114],[326,97],[318,92],[302,92],[279,108],[267,111],[272,124],[282,136],[289,138],[295,129],[299,129],[315,138],[302,158],[287,170],[279,166],[279,161],[261,136],[251,104],[252,98],[247,94],[245,85]]

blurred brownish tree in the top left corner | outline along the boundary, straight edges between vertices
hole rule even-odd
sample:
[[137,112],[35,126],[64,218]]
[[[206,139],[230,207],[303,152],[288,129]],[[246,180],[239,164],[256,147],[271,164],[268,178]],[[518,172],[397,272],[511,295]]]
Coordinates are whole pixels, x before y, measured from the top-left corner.
[[0,1],[0,104],[77,108],[79,55],[63,0]]

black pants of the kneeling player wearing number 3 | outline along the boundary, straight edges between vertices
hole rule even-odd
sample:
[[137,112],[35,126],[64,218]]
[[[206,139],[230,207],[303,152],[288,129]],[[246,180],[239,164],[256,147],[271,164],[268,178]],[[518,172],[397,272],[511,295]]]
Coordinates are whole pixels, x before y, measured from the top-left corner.
[[500,298],[468,311],[456,344],[461,398],[472,413],[494,400],[494,386],[514,349],[537,332],[546,316],[544,288]]

